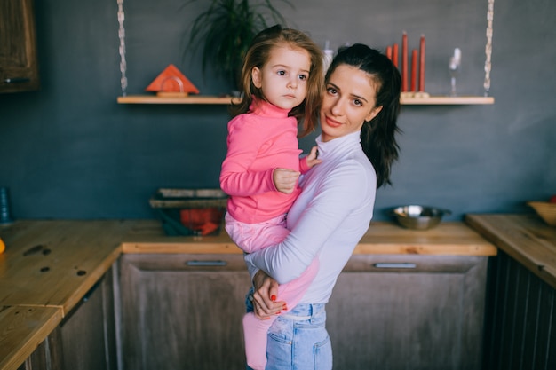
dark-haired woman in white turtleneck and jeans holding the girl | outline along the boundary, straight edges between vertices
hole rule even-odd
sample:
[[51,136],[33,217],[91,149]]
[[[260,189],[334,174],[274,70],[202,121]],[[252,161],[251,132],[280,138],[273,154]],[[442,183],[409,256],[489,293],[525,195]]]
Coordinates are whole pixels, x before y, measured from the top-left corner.
[[369,228],[377,187],[390,183],[400,91],[397,68],[368,46],[346,48],[330,65],[316,139],[322,163],[300,180],[302,192],[288,213],[290,234],[245,256],[255,287],[248,306],[260,319],[282,310],[272,299],[278,284],[296,279],[315,257],[320,264],[298,305],[270,327],[267,370],[332,368],[325,304]]

